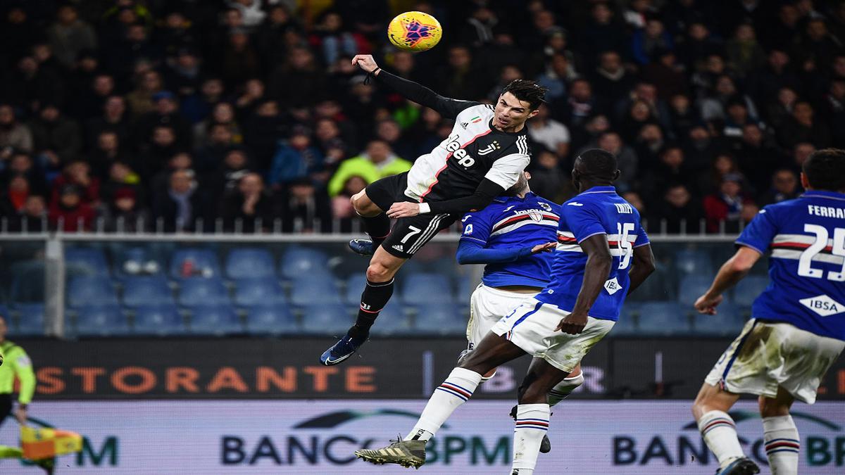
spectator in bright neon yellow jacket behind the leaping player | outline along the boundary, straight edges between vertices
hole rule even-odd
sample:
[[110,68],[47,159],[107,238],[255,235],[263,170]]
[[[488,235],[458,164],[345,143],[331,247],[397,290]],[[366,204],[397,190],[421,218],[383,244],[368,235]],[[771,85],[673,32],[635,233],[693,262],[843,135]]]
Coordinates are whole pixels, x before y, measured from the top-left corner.
[[363,154],[341,161],[341,166],[329,181],[329,196],[340,194],[350,177],[362,177],[364,183],[369,184],[410,169],[410,161],[395,156],[384,140],[375,139],[367,145]]

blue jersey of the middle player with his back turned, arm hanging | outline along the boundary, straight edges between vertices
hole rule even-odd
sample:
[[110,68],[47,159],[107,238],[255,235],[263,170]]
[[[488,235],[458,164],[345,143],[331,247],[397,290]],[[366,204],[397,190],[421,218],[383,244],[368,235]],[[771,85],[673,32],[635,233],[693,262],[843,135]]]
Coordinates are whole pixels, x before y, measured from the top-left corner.
[[640,213],[616,194],[613,187],[590,188],[564,203],[562,208],[558,247],[553,253],[552,281],[537,294],[537,300],[571,312],[581,292],[586,266],[586,253],[580,243],[603,234],[607,236],[613,264],[589,315],[616,321],[630,286],[628,272],[634,248],[649,243],[640,226]]

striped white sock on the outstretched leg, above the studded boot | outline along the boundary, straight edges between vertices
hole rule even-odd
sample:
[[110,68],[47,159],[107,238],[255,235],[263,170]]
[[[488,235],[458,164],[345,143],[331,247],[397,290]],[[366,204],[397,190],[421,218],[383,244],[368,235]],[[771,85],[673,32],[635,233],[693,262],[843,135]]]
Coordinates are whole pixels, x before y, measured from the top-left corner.
[[468,401],[481,382],[481,374],[469,369],[455,368],[442,385],[437,386],[428,400],[423,415],[405,440],[429,440],[437,433],[458,406]]

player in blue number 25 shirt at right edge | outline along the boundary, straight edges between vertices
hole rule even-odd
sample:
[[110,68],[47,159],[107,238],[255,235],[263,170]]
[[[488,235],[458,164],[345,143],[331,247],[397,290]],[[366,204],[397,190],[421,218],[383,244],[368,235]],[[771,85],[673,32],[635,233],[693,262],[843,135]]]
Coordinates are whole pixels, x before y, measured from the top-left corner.
[[806,193],[760,211],[737,239],[695,308],[715,314],[722,293],[771,248],[769,287],[752,319],[719,358],[693,414],[721,475],[759,473],[744,456],[728,410],[740,394],[759,396],[771,472],[798,473],[799,435],[789,407],[815,402],[822,377],[845,347],[845,150],[818,150],[804,162]]

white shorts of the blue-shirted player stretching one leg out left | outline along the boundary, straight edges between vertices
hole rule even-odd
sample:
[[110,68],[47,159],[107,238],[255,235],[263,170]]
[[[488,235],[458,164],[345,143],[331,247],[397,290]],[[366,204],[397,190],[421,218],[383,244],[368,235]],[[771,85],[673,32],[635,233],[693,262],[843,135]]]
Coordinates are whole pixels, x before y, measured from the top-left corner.
[[570,335],[554,330],[570,312],[535,298],[521,303],[508,316],[493,325],[491,331],[504,336],[535,358],[571,373],[581,358],[613,328],[613,320],[587,317],[584,331]]

